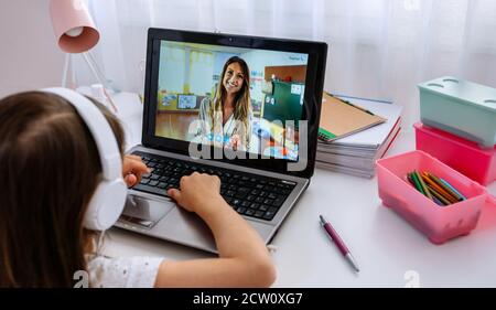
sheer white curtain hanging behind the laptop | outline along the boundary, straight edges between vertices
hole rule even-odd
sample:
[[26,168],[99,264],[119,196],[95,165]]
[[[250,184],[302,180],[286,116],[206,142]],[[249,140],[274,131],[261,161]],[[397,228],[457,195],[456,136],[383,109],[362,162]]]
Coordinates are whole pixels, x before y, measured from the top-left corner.
[[[142,93],[147,29],[174,28],[330,44],[325,89],[403,106],[417,83],[454,75],[496,87],[494,0],[89,0],[106,76]],[[93,83],[79,64],[79,83]]]

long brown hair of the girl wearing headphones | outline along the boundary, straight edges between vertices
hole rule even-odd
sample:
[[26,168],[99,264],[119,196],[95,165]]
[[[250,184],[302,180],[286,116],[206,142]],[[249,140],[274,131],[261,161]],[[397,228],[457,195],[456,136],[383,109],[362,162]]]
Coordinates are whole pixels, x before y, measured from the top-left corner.
[[[118,120],[100,104],[122,151]],[[101,164],[75,108],[30,92],[0,100],[0,287],[73,287],[94,233],[84,229]]]

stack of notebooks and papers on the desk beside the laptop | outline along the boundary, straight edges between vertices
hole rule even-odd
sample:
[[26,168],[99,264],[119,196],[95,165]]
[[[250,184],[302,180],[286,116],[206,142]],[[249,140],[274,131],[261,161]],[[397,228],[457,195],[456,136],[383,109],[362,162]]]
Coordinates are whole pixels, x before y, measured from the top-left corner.
[[[335,99],[336,97],[324,94],[316,167],[374,178],[376,160],[384,157],[401,129],[401,107],[387,101],[337,97],[369,116],[365,117],[338,107],[341,104]],[[330,121],[336,118],[339,121]],[[344,129],[345,127],[347,128]]]

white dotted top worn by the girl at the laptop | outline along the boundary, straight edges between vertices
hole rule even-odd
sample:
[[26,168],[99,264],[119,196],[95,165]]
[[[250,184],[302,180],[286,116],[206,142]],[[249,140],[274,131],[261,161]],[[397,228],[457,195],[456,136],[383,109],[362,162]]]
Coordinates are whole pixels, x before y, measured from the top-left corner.
[[88,260],[91,288],[153,288],[161,257],[95,256]]

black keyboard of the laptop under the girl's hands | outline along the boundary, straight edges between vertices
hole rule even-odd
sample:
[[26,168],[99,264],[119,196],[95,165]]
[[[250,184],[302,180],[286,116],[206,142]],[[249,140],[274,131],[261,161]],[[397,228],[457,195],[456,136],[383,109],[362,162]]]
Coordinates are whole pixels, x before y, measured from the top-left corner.
[[220,179],[220,195],[239,214],[271,221],[293,188],[291,181],[266,178],[257,174],[216,168],[179,159],[160,157],[144,152],[133,152],[141,157],[152,170],[143,174],[141,182],[132,189],[141,192],[168,196],[166,190],[177,189],[180,180],[193,172],[217,175]]

